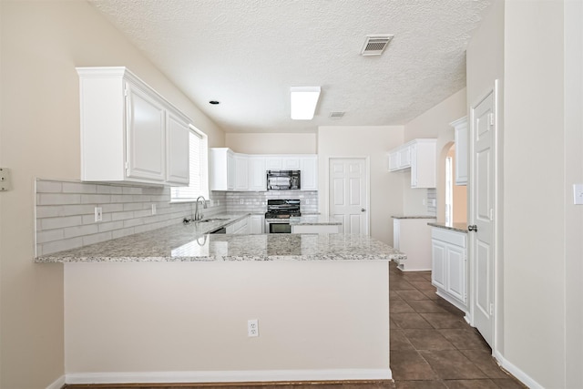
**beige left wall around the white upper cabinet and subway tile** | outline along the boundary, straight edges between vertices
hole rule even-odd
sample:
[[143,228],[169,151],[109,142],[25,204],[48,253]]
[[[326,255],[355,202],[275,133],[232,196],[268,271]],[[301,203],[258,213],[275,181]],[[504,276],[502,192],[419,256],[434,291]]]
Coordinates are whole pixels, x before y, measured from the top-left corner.
[[78,179],[75,67],[127,66],[183,109],[222,146],[224,135],[138,50],[84,1],[10,1],[2,6],[0,193],[3,388],[44,388],[64,374],[63,268],[35,264],[34,179]]

